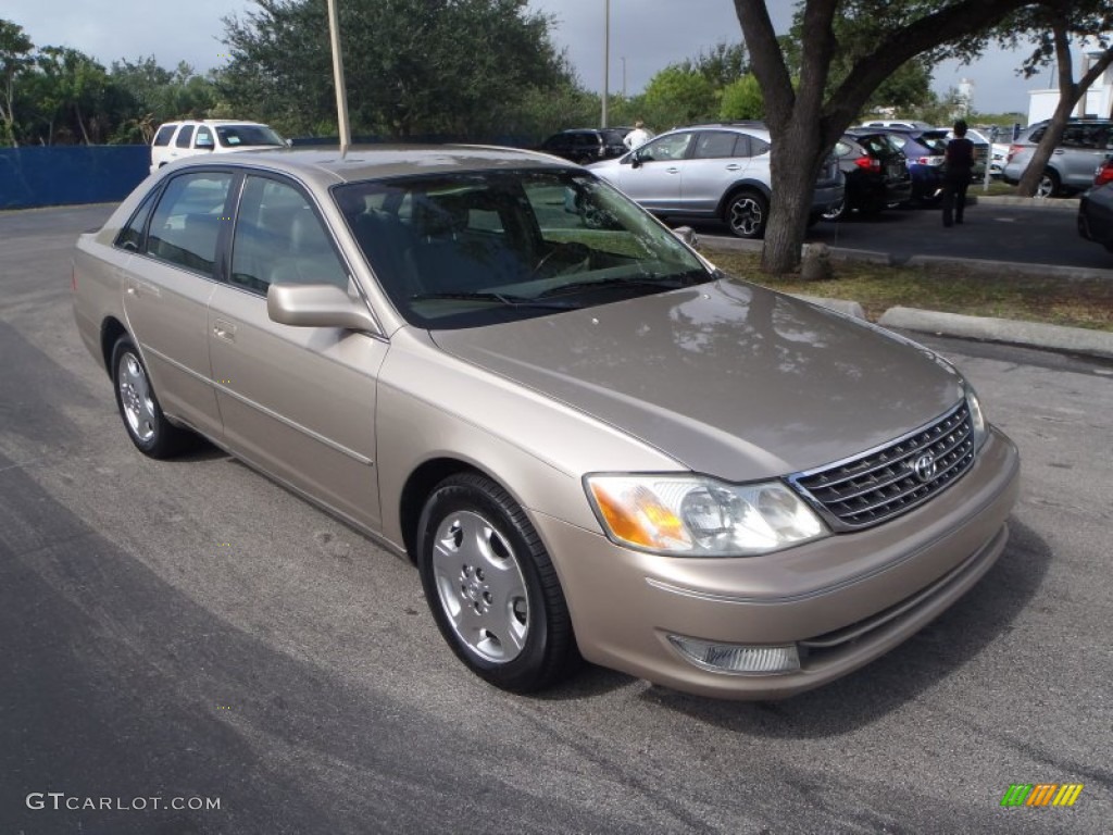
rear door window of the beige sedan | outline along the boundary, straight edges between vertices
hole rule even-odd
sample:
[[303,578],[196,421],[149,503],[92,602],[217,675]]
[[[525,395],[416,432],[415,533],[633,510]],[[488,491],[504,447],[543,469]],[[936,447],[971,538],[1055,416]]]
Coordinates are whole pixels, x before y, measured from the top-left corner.
[[174,177],[151,215],[147,252],[211,276],[217,240],[228,220],[225,205],[232,179],[232,174],[215,171]]

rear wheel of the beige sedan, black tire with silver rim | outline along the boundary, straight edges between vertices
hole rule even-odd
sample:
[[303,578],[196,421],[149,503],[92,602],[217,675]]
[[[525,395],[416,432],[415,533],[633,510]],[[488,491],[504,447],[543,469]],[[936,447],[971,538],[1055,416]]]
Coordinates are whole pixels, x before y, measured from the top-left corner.
[[171,458],[181,452],[190,433],[166,420],[147,375],[147,366],[129,336],[121,336],[112,347],[112,389],[116,407],[128,438],[150,458]]

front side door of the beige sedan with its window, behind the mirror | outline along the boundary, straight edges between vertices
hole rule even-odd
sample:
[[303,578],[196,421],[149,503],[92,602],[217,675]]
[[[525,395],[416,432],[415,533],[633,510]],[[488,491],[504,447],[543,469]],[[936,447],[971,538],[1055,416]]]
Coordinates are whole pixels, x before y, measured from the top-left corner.
[[225,439],[247,461],[336,512],[378,528],[375,385],[387,343],[338,327],[270,321],[267,287],[335,284],[351,271],[297,184],[248,175],[228,283],[209,303],[213,379]]

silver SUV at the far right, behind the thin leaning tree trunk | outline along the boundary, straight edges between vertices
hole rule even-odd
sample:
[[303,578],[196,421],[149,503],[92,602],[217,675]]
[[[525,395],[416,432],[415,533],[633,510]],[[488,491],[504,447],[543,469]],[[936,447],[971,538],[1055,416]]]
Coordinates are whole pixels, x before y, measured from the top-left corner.
[[[1047,121],[1030,125],[1009,147],[1004,171],[1006,183],[1021,181],[1048,125]],[[1094,184],[1094,171],[1110,154],[1113,154],[1113,120],[1071,119],[1047,160],[1036,195],[1054,197],[1090,188]]]

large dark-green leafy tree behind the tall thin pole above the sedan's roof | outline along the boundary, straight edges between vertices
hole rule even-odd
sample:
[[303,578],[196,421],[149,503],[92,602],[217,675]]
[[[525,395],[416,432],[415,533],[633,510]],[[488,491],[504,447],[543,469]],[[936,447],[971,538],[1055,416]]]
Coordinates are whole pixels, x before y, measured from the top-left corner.
[[[292,132],[328,125],[335,98],[325,3],[255,4],[225,19],[224,92]],[[501,132],[530,90],[571,80],[550,19],[526,0],[346,0],[338,12],[357,131],[486,137]]]

